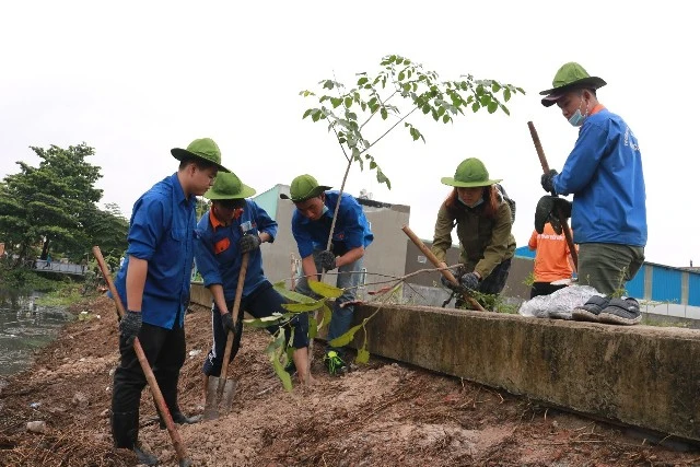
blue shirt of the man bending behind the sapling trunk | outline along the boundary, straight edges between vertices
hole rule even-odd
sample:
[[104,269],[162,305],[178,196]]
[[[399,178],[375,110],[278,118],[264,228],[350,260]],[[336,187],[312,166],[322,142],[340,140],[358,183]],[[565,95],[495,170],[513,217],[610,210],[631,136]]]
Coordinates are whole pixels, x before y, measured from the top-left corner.
[[[325,205],[328,211],[317,221],[312,221],[302,215],[299,210],[292,217],[292,233],[299,246],[299,254],[305,258],[314,253],[314,249],[326,249],[332,213],[338,201],[338,191],[326,191]],[[340,198],[338,219],[332,233],[332,253],[342,256],[352,248],[368,247],[374,235],[370,231],[370,223],[362,211],[362,207],[347,192]]]

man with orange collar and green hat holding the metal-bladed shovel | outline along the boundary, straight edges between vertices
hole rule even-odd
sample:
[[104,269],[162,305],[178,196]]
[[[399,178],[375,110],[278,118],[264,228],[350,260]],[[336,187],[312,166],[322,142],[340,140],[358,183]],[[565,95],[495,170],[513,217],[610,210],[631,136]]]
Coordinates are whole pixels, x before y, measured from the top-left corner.
[[[272,316],[275,313],[289,313],[282,307],[285,300],[267,280],[262,272],[260,244],[275,242],[277,222],[275,222],[255,201],[245,199],[255,195],[255,190],[243,183],[233,173],[220,174],[214,186],[205,194],[211,199],[211,209],[202,215],[197,225],[198,240],[195,243],[195,260],[201,273],[205,287],[213,296],[211,327],[213,346],[205,360],[205,394],[209,376],[220,376],[224,348],[229,331],[234,334],[231,360],[241,345],[243,312],[256,318]],[[243,284],[241,310],[234,325],[231,315],[238,284],[238,273],[243,254],[248,254],[248,267]],[[294,329],[292,360],[296,369],[308,366],[308,316],[302,313],[284,326],[285,338]],[[279,326],[267,328],[270,334]],[[291,367],[291,366],[290,366]],[[308,376],[311,377],[311,376]],[[299,372],[302,384],[307,381],[305,371]]]

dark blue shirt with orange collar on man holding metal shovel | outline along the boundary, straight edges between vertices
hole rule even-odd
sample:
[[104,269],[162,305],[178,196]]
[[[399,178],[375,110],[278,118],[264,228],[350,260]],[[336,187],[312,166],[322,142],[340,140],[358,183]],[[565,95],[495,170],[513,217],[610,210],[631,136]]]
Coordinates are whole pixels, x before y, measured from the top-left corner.
[[[245,200],[245,208],[230,225],[221,224],[217,218],[207,212],[197,224],[197,241],[195,242],[195,260],[197,270],[205,280],[205,287],[221,284],[226,301],[232,301],[238,287],[238,273],[243,255],[238,250],[238,241],[243,230],[248,235],[259,235],[267,232],[270,242],[277,235],[277,222],[255,201]],[[243,284],[243,296],[247,296],[266,281],[262,272],[262,255],[259,248],[248,255],[248,269]]]

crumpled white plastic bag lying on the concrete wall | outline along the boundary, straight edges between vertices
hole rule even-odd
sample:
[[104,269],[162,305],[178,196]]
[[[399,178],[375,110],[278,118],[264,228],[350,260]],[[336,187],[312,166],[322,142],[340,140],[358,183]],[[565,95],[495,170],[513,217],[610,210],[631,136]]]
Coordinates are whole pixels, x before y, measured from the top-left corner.
[[571,312],[593,295],[605,296],[591,285],[569,285],[523,302],[517,313],[536,318],[571,319]]

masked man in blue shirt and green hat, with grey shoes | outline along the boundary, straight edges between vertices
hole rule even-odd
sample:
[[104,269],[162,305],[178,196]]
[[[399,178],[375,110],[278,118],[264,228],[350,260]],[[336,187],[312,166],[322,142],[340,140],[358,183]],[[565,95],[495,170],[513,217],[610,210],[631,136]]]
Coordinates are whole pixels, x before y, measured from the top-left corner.
[[[575,319],[633,325],[641,320],[634,299],[616,297],[644,261],[646,194],[637,138],[618,115],[597,100],[606,82],[581,65],[563,65],[542,91],[545,107],[553,104],[579,128],[579,138],[558,173],[542,175],[545,191],[573,194],[571,226],[579,244],[579,281],[607,297],[594,296],[574,310]],[[564,220],[562,220],[563,222]]]

